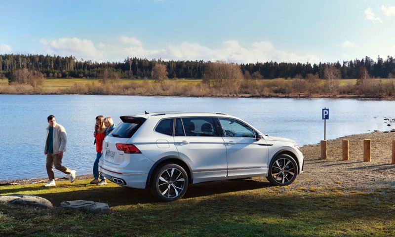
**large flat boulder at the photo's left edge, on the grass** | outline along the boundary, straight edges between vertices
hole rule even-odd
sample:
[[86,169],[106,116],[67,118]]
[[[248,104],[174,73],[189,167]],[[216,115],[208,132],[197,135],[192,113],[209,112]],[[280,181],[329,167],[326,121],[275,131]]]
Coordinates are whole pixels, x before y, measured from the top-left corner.
[[16,204],[16,205],[44,207],[44,208],[53,207],[52,203],[47,199],[34,195],[13,194],[13,195],[1,196],[0,202],[6,202],[9,204]]

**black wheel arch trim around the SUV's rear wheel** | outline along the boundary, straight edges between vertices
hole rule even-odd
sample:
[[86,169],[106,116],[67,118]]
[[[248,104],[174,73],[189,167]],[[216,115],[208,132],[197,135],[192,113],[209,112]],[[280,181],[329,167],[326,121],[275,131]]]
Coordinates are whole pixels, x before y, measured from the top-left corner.
[[146,189],[150,187],[151,178],[152,178],[153,174],[155,173],[155,171],[157,169],[159,169],[160,167],[162,167],[163,165],[170,164],[170,163],[178,164],[181,167],[183,167],[185,172],[187,172],[187,175],[188,175],[188,180],[189,180],[188,183],[190,183],[190,184],[193,183],[194,176],[193,176],[192,169],[191,169],[191,166],[189,165],[189,163],[185,159],[178,157],[178,156],[167,156],[167,157],[160,158],[151,167],[150,172],[148,172],[147,181],[145,184]]

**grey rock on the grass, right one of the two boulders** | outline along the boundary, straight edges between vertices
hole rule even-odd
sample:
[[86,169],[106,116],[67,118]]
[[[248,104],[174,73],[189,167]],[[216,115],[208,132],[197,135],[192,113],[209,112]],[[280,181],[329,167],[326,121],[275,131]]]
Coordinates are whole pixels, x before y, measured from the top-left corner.
[[111,213],[110,207],[103,202],[75,200],[75,201],[62,201],[60,203],[62,208],[77,209],[83,212],[105,214]]

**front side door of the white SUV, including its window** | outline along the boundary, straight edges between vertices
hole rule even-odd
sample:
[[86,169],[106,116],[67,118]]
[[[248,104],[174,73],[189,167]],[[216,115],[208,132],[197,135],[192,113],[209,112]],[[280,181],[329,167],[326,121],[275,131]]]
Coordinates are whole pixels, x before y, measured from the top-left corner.
[[228,178],[266,175],[269,146],[264,139],[256,140],[255,131],[234,118],[218,118],[227,149]]

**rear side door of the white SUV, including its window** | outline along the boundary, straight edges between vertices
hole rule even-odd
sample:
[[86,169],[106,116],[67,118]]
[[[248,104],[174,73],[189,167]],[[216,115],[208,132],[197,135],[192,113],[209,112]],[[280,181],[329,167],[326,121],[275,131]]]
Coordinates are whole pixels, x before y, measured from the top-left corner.
[[176,118],[174,143],[190,160],[194,183],[226,179],[226,147],[214,118]]

